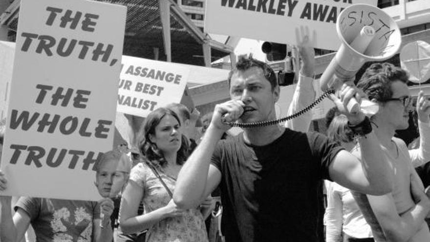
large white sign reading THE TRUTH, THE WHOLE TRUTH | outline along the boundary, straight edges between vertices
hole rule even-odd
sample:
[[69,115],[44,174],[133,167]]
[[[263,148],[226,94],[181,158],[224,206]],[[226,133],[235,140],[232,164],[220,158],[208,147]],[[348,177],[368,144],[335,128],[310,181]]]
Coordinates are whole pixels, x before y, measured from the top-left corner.
[[126,13],[96,1],[21,0],[4,195],[101,198],[94,163],[112,149]]

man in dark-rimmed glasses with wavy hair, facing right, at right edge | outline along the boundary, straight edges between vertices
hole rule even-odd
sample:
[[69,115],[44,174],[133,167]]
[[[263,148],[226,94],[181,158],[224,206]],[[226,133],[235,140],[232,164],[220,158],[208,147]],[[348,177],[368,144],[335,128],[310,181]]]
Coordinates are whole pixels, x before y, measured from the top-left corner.
[[[408,74],[389,63],[372,64],[366,69],[357,87],[369,100],[379,105],[371,117],[372,128],[394,172],[393,191],[383,196],[353,193],[376,241],[429,242],[430,232],[424,219],[430,211],[428,196],[413,164],[430,160],[430,103],[423,92],[417,99],[421,146],[408,151],[405,142],[394,137],[396,130],[409,126],[412,111]],[[360,147],[351,151],[360,155]],[[412,164],[413,163],[413,164]]]

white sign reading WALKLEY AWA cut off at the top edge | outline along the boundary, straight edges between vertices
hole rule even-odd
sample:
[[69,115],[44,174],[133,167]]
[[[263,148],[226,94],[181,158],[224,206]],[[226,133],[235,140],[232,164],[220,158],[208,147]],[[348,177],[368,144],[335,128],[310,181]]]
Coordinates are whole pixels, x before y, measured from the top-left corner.
[[308,26],[310,34],[315,34],[314,47],[338,50],[341,41],[336,33],[337,16],[354,3],[376,6],[377,0],[206,1],[205,31],[296,44],[296,28]]

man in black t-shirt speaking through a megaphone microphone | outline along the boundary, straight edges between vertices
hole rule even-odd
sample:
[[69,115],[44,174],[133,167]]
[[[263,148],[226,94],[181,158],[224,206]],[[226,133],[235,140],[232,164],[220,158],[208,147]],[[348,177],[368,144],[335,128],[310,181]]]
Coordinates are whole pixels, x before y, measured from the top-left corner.
[[344,84],[336,104],[362,137],[361,161],[322,134],[278,125],[245,128],[220,141],[230,128],[225,121],[275,119],[280,96],[274,71],[251,56],[239,57],[228,80],[231,100],[215,106],[211,124],[182,167],[173,195],[177,206],[192,208],[220,185],[227,242],[319,241],[321,179],[366,194],[391,192],[392,169],[369,119],[360,111],[345,111],[351,98],[360,101],[357,88]]

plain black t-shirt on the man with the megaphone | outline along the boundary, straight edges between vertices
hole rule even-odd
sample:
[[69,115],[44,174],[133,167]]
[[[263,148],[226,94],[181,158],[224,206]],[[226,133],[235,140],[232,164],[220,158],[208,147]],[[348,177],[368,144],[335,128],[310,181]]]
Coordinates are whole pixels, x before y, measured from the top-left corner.
[[286,129],[265,146],[242,134],[221,140],[212,164],[221,172],[221,228],[227,242],[317,242],[319,181],[342,150],[319,133]]

